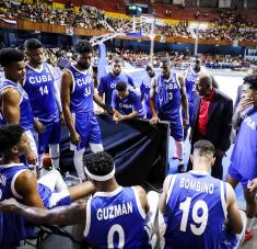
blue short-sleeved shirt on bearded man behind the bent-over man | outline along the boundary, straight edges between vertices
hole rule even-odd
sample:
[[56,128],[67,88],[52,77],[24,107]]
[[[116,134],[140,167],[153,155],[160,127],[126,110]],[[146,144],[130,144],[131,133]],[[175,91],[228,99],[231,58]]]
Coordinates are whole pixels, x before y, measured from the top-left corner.
[[112,105],[112,97],[116,88],[116,83],[121,81],[132,87],[135,86],[132,78],[124,72],[120,72],[120,75],[117,77],[108,72],[100,79],[98,93],[104,94],[105,104],[108,107]]

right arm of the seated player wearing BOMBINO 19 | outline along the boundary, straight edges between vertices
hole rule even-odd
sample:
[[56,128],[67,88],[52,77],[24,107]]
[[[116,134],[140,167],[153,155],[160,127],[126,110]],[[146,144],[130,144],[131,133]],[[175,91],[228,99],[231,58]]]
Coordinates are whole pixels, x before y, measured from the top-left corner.
[[243,230],[243,220],[241,217],[240,208],[236,203],[235,192],[233,188],[225,183],[226,185],[226,207],[227,207],[227,220],[226,228],[235,234],[241,234]]

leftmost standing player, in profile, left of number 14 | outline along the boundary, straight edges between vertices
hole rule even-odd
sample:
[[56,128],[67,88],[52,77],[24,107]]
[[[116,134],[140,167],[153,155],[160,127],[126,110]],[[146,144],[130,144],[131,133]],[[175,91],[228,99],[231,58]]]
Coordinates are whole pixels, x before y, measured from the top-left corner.
[[4,81],[0,83],[1,123],[21,124],[30,143],[26,160],[32,169],[37,163],[37,148],[33,136],[33,112],[28,97],[22,88],[25,79],[25,61],[22,52],[13,48],[0,50],[0,64]]

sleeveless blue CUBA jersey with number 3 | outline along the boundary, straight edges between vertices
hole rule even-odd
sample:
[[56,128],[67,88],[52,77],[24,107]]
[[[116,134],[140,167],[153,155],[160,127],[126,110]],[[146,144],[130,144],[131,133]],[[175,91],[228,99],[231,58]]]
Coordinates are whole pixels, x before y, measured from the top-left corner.
[[157,113],[161,120],[176,120],[182,115],[180,84],[175,72],[168,80],[162,76],[156,81]]

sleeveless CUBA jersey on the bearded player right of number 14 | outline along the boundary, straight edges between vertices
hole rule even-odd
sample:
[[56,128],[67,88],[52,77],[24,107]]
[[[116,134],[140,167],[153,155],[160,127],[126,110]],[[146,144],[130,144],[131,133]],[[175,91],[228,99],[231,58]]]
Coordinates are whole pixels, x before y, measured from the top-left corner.
[[80,71],[74,66],[67,70],[73,79],[73,89],[70,95],[70,110],[72,113],[85,113],[93,111],[94,83],[90,70]]

